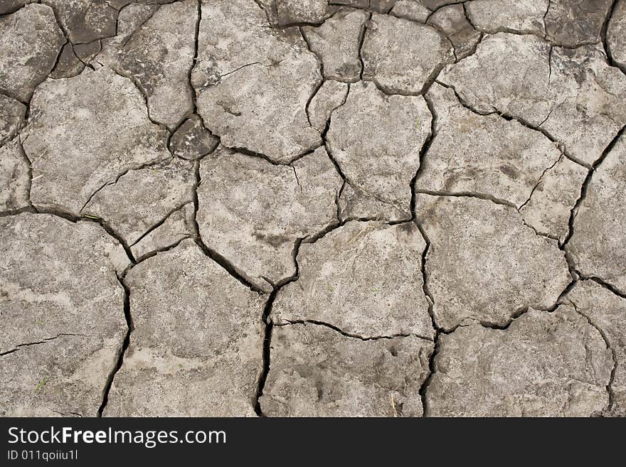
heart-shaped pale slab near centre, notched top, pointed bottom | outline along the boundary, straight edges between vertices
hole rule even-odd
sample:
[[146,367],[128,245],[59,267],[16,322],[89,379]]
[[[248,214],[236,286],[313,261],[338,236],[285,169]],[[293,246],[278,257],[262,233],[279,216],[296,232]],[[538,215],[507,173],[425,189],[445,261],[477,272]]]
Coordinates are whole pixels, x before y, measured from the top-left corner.
[[200,166],[198,227],[208,247],[255,285],[295,272],[295,241],[336,220],[341,177],[323,148],[292,166],[220,148]]

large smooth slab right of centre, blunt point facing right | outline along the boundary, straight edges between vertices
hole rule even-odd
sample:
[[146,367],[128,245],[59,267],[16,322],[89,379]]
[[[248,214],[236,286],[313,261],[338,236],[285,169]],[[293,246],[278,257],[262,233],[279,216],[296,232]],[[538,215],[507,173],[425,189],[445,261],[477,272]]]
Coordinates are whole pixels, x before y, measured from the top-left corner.
[[467,197],[420,195],[430,240],[428,290],[438,326],[468,318],[504,326],[529,306],[549,308],[571,281],[557,242],[536,235],[514,208]]

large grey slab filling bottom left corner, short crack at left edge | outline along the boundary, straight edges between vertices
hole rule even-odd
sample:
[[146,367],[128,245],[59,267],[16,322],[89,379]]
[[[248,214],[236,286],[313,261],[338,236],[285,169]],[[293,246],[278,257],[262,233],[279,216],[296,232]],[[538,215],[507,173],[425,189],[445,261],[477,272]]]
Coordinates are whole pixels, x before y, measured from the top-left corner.
[[95,417],[127,332],[99,225],[53,215],[0,218],[0,415]]

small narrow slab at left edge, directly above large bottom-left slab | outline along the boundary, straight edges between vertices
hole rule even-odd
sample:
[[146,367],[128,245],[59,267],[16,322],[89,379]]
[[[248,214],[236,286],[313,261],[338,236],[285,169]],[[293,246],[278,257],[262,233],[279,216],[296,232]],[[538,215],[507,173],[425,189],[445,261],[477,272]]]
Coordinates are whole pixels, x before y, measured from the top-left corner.
[[11,141],[0,148],[0,211],[26,208],[30,184],[28,161],[19,141]]

